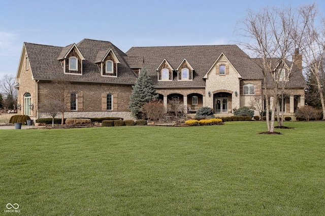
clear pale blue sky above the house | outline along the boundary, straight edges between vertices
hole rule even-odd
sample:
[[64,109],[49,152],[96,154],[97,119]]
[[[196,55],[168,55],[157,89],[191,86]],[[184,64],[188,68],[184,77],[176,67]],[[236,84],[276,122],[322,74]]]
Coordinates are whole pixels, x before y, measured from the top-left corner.
[[[23,42],[65,47],[83,38],[131,47],[224,45],[241,40],[246,10],[302,0],[0,0],[0,79],[16,75]],[[325,1],[316,0],[325,14]]]

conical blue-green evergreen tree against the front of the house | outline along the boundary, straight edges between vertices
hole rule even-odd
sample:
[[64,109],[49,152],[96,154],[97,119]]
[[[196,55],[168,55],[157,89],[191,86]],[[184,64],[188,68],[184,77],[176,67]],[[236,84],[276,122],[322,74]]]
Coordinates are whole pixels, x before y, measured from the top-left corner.
[[158,97],[154,89],[151,77],[148,74],[145,67],[140,70],[140,74],[136,79],[136,83],[132,86],[133,91],[130,96],[130,102],[128,104],[128,109],[138,117],[141,107]]

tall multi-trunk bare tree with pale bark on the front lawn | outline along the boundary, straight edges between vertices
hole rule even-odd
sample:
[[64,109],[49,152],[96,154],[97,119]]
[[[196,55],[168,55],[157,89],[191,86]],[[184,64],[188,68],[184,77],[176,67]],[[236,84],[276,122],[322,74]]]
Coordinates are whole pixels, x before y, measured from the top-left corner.
[[[241,22],[244,25],[243,35],[249,39],[241,44],[255,55],[253,61],[263,72],[267,116],[269,110],[272,110],[271,121],[266,118],[270,133],[274,132],[278,99],[284,94],[289,78],[299,71],[294,67],[301,60],[297,49],[303,47],[307,25],[314,10],[314,4],[302,6],[298,10],[290,7],[264,8],[259,12],[248,10],[246,18]],[[292,62],[289,63],[287,59],[291,57]],[[284,69],[285,73],[282,72]]]

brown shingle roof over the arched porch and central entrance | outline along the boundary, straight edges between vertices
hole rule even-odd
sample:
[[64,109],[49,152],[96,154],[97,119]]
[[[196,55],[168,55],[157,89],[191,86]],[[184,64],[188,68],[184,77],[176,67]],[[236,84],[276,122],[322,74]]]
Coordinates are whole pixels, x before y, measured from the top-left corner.
[[[260,79],[262,73],[253,67],[251,59],[236,45],[176,46],[176,47],[133,47],[127,56],[144,58],[144,64],[156,88],[166,87],[205,87],[204,75],[223,53],[243,78]],[[156,68],[166,59],[177,68],[186,59],[194,68],[192,81],[158,81]]]

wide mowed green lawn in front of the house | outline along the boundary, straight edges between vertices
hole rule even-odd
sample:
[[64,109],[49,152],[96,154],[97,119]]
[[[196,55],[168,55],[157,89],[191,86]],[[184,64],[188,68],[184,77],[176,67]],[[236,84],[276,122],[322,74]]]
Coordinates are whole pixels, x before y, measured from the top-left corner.
[[0,130],[0,211],[323,215],[325,122],[285,126]]

